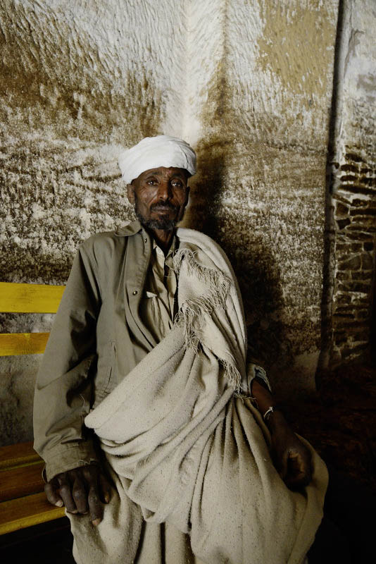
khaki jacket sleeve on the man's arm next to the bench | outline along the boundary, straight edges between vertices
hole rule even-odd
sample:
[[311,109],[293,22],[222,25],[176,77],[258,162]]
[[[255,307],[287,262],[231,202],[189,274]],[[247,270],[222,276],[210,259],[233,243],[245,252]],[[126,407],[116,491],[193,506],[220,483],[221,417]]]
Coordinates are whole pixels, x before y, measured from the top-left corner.
[[96,319],[101,307],[96,264],[89,248],[77,252],[37,376],[34,448],[46,479],[97,461],[84,427],[96,364]]

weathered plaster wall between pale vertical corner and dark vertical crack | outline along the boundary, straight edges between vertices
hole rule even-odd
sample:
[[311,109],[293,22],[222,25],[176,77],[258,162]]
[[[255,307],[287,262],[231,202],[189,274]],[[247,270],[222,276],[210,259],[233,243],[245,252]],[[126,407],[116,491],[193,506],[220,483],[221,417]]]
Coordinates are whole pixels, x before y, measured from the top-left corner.
[[219,4],[192,218],[230,255],[253,353],[291,393],[313,388],[320,350],[337,0]]

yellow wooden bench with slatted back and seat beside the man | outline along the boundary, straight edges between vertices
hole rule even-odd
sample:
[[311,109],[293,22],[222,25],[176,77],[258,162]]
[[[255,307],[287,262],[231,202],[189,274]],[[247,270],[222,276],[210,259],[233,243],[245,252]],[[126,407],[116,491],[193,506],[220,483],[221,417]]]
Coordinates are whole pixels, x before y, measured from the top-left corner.
[[[56,313],[64,286],[0,282],[0,312]],[[0,333],[0,356],[44,352],[49,333]],[[58,519],[44,494],[43,461],[30,443],[0,447],[0,534]]]

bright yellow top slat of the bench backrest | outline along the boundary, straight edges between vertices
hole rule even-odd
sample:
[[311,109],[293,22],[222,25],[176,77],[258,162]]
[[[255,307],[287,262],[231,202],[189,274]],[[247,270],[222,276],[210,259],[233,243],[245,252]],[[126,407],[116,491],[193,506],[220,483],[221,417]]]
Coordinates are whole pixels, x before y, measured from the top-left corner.
[[0,282],[0,312],[56,313],[65,286]]

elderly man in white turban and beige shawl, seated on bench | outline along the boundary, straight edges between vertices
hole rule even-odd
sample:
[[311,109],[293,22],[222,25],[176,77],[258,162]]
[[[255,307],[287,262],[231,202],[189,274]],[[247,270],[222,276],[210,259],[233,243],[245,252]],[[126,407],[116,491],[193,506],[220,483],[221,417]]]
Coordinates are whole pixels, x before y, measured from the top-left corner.
[[47,498],[79,564],[301,563],[325,465],[247,362],[227,257],[175,230],[196,155],[160,135],[119,164],[137,221],[80,246],[37,379]]

